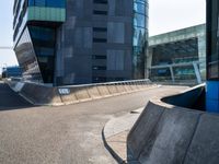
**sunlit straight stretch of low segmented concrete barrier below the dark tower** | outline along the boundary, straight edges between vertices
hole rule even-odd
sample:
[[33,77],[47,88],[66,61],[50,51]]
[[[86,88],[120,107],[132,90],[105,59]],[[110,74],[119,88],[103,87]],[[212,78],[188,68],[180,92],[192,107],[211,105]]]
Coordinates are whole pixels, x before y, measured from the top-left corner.
[[64,104],[72,104],[77,102],[127,94],[140,90],[146,90],[151,86],[153,85],[151,84],[150,80],[136,80],[136,81],[125,81],[125,82],[61,86],[58,87],[58,90],[68,89],[69,93],[60,94],[60,98]]

